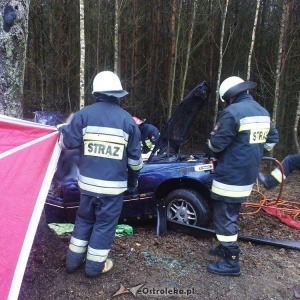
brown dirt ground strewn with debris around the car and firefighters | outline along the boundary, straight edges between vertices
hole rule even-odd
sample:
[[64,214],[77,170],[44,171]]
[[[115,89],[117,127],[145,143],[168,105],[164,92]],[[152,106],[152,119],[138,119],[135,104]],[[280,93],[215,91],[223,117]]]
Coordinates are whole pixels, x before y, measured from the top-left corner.
[[[293,173],[281,198],[299,201],[299,182],[299,173]],[[278,191],[279,188],[261,189],[267,199],[276,199]],[[74,274],[65,272],[69,237],[59,237],[40,225],[19,300],[300,299],[300,250],[240,240],[242,275],[223,277],[206,270],[207,264],[216,259],[208,254],[217,244],[214,237],[191,236],[175,229],[169,230],[165,237],[156,237],[153,221],[132,226],[133,236],[115,239],[110,252],[114,268],[98,278],[88,279],[84,268]],[[240,216],[240,234],[300,242],[300,230],[262,211]],[[135,296],[134,287],[138,285],[142,287]],[[120,287],[127,288],[127,293],[114,296]]]

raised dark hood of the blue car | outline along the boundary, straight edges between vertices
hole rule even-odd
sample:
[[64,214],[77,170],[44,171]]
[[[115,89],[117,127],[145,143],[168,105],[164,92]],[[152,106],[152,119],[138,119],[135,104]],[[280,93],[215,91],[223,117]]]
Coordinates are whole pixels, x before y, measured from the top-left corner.
[[199,111],[208,102],[210,88],[205,81],[198,84],[179,104],[161,131],[148,162],[159,156],[177,154]]

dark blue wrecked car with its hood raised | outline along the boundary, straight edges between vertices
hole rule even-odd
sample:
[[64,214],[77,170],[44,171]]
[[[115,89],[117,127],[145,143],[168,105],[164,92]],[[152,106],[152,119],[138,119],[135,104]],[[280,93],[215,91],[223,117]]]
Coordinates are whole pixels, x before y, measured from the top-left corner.
[[[156,217],[158,204],[164,203],[167,219],[198,226],[208,224],[209,189],[215,161],[205,153],[183,154],[179,150],[199,111],[207,104],[209,95],[209,87],[202,82],[174,111],[141,170],[139,194],[124,194],[120,221]],[[64,174],[67,179],[58,183],[58,174],[54,176],[45,204],[48,223],[75,221],[80,201],[76,168],[72,167],[76,165],[73,164],[76,155],[76,151],[69,150],[61,154],[57,173],[60,177]],[[64,160],[69,160],[69,163],[64,163]],[[70,172],[73,174],[70,175]]]

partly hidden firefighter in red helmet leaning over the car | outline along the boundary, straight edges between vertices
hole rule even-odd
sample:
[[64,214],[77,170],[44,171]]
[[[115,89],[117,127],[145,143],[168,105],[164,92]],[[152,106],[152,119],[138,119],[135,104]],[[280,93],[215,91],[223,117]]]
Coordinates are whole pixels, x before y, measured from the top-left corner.
[[138,117],[133,119],[141,131],[142,151],[144,154],[149,153],[159,138],[159,130],[152,124],[146,124],[146,119],[141,120]]

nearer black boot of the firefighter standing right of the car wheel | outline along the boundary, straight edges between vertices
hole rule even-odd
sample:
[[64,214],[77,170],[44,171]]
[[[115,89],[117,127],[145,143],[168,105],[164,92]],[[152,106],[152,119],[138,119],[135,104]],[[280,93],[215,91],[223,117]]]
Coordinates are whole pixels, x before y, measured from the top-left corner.
[[222,276],[239,276],[241,274],[239,255],[240,250],[238,247],[225,249],[223,258],[207,266],[208,272]]

